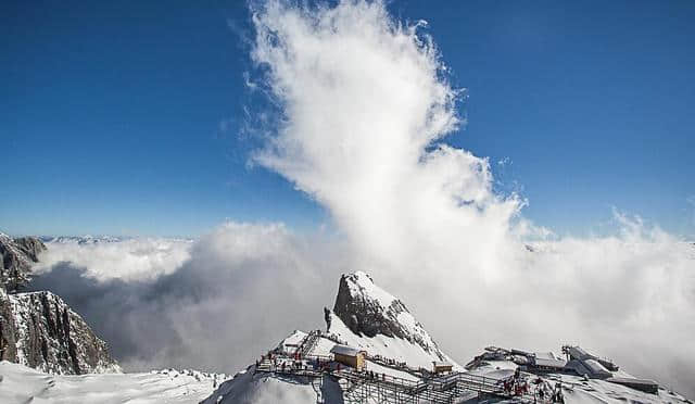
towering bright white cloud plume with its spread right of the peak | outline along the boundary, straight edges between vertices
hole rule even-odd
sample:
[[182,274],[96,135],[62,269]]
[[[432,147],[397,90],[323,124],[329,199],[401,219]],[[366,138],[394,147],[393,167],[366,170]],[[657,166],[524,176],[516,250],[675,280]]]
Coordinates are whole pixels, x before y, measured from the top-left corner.
[[422,23],[382,2],[269,1],[254,24],[252,58],[282,114],[254,161],[326,206],[361,267],[448,352],[582,343],[688,387],[692,245],[619,213],[616,236],[538,241],[547,230],[493,192],[488,160],[444,143],[458,91]]

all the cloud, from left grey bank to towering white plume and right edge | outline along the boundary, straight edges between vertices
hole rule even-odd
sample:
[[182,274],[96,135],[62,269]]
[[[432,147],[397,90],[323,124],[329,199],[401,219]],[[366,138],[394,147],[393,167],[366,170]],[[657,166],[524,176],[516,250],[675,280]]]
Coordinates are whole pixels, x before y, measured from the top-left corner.
[[361,269],[462,363],[489,344],[580,343],[695,393],[692,244],[620,212],[604,237],[525,218],[486,159],[446,144],[460,90],[424,22],[380,1],[251,9],[249,85],[275,118],[249,161],[336,230],[230,222],[193,242],[51,245],[34,288],[63,295],[126,368],[241,368],[292,329],[323,327],[339,275]]

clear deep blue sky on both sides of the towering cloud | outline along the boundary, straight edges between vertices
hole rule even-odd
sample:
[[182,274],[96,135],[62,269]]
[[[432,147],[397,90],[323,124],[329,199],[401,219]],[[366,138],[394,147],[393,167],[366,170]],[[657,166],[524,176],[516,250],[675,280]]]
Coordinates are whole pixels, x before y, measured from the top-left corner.
[[[500,190],[528,198],[525,216],[586,235],[608,231],[615,206],[695,236],[694,2],[389,9],[429,22],[469,96],[448,142],[490,156]],[[243,2],[4,2],[0,15],[0,230],[195,236],[227,218],[327,220],[245,164]]]

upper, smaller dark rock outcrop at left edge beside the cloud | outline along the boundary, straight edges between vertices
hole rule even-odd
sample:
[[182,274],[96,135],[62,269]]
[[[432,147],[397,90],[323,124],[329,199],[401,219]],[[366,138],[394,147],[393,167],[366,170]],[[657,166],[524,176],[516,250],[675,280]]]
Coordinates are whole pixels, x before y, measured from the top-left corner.
[[15,291],[29,281],[31,264],[46,250],[35,237],[12,239],[0,233],[0,288]]

